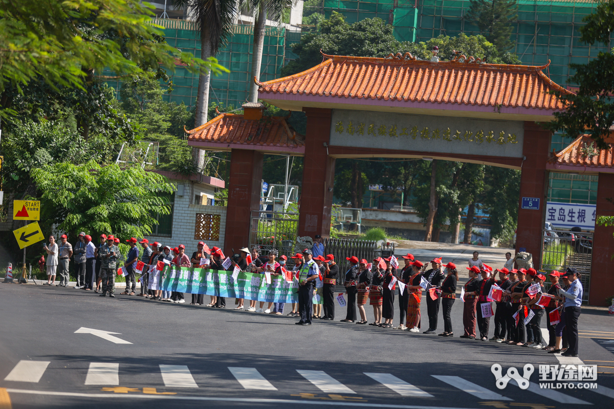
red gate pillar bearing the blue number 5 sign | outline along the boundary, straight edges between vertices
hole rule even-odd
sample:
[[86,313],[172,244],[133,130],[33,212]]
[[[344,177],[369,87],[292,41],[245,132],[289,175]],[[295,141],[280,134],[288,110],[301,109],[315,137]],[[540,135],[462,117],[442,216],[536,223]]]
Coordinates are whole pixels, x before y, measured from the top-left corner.
[[[520,197],[518,202],[518,230],[516,231],[516,251],[524,247],[533,255],[535,269],[542,259],[542,230],[546,208],[546,187],[548,172],[546,160],[550,148],[550,131],[534,122],[524,123],[523,169],[520,177]],[[521,208],[523,197],[538,197],[539,210]]]

